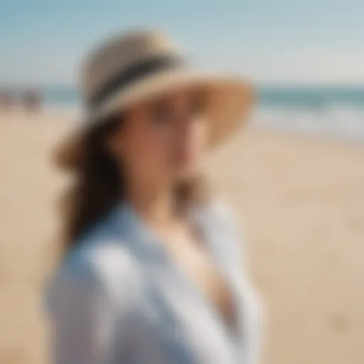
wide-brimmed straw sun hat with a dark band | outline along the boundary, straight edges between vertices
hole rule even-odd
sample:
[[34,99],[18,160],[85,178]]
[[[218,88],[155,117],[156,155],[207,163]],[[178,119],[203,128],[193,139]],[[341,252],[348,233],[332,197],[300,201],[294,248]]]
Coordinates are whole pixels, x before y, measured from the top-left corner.
[[209,145],[215,146],[245,121],[253,101],[249,82],[198,72],[166,35],[156,31],[127,33],[103,43],[82,69],[85,122],[56,147],[55,164],[73,170],[82,159],[80,146],[87,129],[108,116],[164,92],[195,86],[208,92]]

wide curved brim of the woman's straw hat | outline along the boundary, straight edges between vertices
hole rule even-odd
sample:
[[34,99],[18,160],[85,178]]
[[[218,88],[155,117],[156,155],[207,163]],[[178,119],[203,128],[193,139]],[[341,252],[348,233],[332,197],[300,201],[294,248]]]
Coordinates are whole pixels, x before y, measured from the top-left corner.
[[225,141],[237,127],[245,124],[255,98],[252,84],[238,77],[207,75],[191,70],[173,70],[146,77],[127,90],[114,92],[114,96],[104,105],[85,116],[86,122],[55,148],[53,153],[55,166],[64,171],[77,168],[82,159],[82,141],[87,135],[87,129],[97,122],[102,122],[108,116],[122,112],[139,102],[185,87],[203,88],[208,91],[206,116],[210,122],[209,148]]

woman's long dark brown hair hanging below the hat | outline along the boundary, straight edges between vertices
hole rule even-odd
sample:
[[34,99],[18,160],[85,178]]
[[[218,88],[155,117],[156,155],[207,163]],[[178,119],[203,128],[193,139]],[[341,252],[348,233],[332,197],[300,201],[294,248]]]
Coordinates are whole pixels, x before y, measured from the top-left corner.
[[[126,182],[120,164],[106,147],[106,141],[119,127],[123,117],[115,115],[88,129],[79,148],[82,158],[75,170],[75,183],[63,199],[65,250],[76,244],[77,237],[92,228],[119,200],[127,198]],[[205,180],[194,176],[176,186],[180,210],[202,203],[207,198]]]

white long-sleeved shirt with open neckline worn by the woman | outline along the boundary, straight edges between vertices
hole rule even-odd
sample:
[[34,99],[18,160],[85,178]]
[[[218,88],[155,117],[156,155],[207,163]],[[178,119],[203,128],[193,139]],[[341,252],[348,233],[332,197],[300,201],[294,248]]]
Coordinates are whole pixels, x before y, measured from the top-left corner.
[[236,330],[126,203],[87,232],[46,291],[55,364],[255,364],[260,306],[240,234],[218,203],[193,218],[227,280]]

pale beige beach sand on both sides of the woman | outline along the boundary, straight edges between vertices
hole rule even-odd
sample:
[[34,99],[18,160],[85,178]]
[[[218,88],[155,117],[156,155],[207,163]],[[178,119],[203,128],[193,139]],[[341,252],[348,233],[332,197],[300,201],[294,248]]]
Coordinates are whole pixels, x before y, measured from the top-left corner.
[[[60,114],[0,114],[0,363],[48,363],[41,292],[67,182],[48,160],[69,128]],[[364,363],[364,148],[250,127],[208,172],[245,227],[262,363]]]

